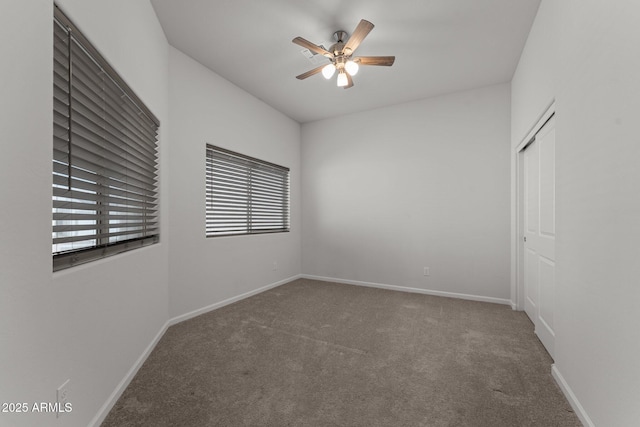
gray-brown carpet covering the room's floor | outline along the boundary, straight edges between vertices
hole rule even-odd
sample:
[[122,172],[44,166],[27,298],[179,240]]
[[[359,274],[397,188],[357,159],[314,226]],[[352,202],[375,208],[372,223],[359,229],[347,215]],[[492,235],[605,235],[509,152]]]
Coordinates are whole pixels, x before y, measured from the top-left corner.
[[522,312],[300,279],[170,327],[103,426],[580,426]]

